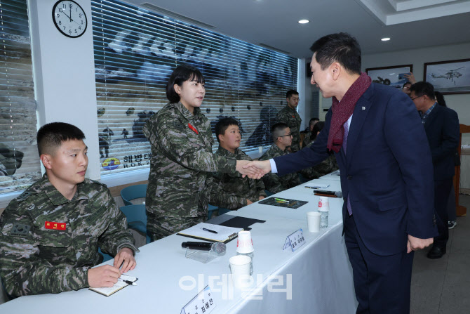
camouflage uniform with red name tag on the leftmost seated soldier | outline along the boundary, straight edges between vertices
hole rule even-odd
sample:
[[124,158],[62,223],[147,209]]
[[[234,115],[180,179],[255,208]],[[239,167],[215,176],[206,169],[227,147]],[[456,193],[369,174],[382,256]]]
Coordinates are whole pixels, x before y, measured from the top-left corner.
[[0,275],[11,296],[88,287],[88,268],[103,259],[98,247],[138,251],[106,185],[88,179],[69,200],[44,175],[8,204],[0,228]]

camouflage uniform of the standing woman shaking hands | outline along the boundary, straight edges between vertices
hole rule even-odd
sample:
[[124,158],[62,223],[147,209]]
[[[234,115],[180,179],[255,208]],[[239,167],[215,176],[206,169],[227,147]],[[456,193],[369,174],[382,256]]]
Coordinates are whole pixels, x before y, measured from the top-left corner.
[[236,172],[235,159],[213,154],[209,120],[199,107],[192,115],[182,103],[169,103],[143,132],[152,145],[145,206],[153,240],[206,221],[211,172]]

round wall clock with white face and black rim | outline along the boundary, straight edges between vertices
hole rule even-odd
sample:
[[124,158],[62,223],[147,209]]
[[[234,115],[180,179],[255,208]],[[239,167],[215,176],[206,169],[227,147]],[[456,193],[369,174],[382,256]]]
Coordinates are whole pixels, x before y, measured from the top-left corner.
[[55,27],[67,37],[80,37],[86,31],[86,15],[83,8],[72,0],[60,0],[52,8]]

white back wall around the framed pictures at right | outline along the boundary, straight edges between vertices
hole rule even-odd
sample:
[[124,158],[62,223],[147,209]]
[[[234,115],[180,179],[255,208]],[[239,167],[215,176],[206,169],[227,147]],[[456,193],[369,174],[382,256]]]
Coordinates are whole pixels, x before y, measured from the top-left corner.
[[[466,58],[470,58],[470,43],[363,55],[362,65],[365,70],[368,67],[412,64],[415,78],[417,81],[422,81],[424,63]],[[448,107],[459,115],[459,122],[470,125],[470,93],[445,95],[444,98]],[[462,135],[462,145],[469,144],[470,134]]]

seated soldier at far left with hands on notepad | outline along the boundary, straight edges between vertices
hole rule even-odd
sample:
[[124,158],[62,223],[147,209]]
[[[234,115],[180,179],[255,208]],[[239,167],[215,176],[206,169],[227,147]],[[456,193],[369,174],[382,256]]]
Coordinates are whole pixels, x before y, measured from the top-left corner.
[[[138,249],[126,217],[106,185],[85,178],[84,138],[62,122],[38,131],[46,174],[0,217],[0,276],[10,296],[112,287],[135,268]],[[98,246],[115,256],[113,266],[92,268],[103,260]]]

